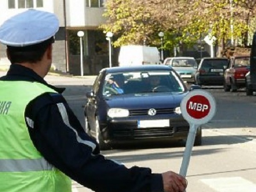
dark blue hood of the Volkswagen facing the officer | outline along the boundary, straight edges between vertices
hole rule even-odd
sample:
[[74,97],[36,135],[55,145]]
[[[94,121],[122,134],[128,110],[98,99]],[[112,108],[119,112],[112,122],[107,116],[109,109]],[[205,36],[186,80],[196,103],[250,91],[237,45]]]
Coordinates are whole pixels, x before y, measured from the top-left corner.
[[187,92],[128,94],[106,97],[105,102],[109,108],[176,108],[186,94]]

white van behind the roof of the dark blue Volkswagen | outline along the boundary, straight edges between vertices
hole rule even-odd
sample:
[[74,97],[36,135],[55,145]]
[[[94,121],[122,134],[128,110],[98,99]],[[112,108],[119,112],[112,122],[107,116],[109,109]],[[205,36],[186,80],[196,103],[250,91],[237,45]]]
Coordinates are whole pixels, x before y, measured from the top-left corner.
[[161,64],[160,52],[157,47],[125,45],[120,47],[118,63],[119,66]]

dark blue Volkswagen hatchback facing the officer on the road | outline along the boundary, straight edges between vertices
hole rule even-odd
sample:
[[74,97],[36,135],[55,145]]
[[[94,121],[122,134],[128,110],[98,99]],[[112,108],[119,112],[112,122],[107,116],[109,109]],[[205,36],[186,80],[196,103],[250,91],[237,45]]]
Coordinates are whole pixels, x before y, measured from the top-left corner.
[[[115,79],[123,79],[123,85],[113,85]],[[115,87],[123,91],[118,92]],[[200,86],[191,87],[197,88]],[[85,131],[102,150],[113,144],[186,140],[189,123],[181,114],[180,102],[188,92],[169,66],[104,68],[87,92]],[[200,127],[195,145],[201,145],[201,137]]]

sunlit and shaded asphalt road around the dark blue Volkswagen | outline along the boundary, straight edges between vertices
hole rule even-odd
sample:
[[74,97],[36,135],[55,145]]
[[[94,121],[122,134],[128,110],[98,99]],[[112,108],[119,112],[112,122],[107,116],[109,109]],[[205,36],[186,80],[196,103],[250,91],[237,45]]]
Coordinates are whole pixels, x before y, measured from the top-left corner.
[[[82,125],[85,93],[94,79],[46,77],[49,83],[67,87],[64,96]],[[186,192],[256,192],[256,96],[245,96],[242,90],[225,93],[221,87],[203,88],[214,96],[217,111],[213,119],[203,125],[202,145],[193,147]],[[179,172],[184,149],[180,145],[148,145],[102,151],[102,154],[127,167],[136,165],[151,167],[153,172]],[[73,182],[73,192],[90,190]]]

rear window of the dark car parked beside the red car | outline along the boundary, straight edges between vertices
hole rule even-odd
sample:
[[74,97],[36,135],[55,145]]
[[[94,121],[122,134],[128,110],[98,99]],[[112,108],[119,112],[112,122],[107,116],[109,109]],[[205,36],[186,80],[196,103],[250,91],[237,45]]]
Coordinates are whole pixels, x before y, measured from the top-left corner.
[[226,59],[206,59],[202,61],[201,69],[205,70],[206,72],[213,72],[214,69],[226,69],[228,63],[229,61]]

